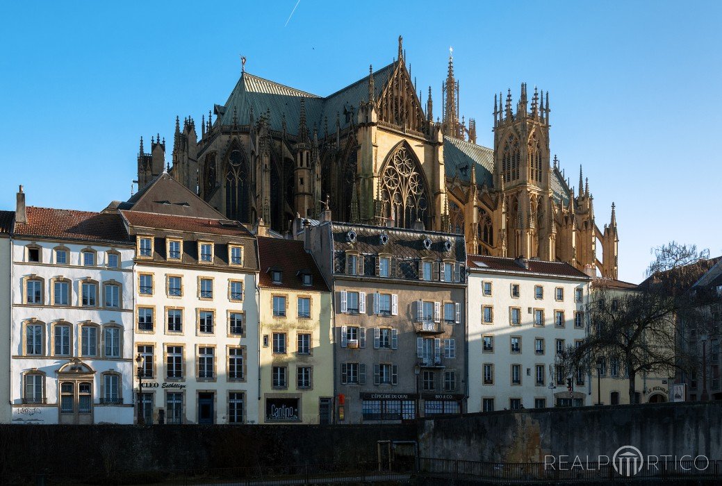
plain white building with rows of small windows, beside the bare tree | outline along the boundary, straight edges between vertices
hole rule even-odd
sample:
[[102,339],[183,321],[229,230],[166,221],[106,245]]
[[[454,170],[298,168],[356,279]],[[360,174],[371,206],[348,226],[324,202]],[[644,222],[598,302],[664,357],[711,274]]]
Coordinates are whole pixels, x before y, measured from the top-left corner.
[[586,336],[591,278],[564,262],[482,255],[467,269],[469,412],[591,405],[586,374],[554,363]]

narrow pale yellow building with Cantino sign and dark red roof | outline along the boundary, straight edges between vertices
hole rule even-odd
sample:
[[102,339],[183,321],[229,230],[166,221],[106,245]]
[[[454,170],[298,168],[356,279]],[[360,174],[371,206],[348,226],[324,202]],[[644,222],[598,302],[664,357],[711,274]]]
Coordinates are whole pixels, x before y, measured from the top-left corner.
[[258,423],[331,423],[331,292],[303,242],[258,237]]

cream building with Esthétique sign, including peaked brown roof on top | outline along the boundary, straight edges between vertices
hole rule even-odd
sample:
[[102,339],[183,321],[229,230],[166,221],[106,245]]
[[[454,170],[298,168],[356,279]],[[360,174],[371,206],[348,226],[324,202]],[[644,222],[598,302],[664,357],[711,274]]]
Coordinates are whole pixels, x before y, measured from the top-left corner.
[[161,174],[120,210],[135,244],[144,423],[256,423],[256,239]]

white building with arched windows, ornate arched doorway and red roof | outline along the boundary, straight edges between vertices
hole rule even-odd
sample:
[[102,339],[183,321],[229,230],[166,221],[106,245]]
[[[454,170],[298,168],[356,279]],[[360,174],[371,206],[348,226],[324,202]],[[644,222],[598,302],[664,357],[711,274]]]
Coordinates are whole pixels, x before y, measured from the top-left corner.
[[25,207],[9,295],[12,423],[132,423],[134,246],[116,213]]

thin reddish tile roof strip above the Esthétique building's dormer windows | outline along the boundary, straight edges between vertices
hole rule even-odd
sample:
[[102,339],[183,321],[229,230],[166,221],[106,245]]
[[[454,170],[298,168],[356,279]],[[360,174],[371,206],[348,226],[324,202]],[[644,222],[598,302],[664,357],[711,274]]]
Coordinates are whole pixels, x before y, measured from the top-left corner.
[[237,221],[224,219],[192,218],[170,214],[121,211],[131,226],[154,229],[175,229],[191,233],[224,234],[228,236],[252,237],[251,231]]

